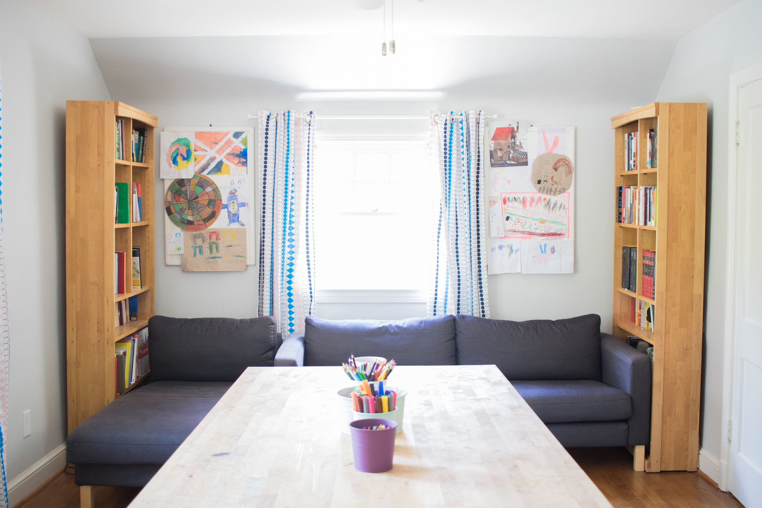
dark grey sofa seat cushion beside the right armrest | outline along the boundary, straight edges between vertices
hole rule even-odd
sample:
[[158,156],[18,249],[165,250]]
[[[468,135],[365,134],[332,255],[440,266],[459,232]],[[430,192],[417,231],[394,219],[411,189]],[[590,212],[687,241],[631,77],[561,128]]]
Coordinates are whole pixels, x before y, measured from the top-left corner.
[[626,420],[632,401],[626,391],[600,381],[514,381],[543,423]]

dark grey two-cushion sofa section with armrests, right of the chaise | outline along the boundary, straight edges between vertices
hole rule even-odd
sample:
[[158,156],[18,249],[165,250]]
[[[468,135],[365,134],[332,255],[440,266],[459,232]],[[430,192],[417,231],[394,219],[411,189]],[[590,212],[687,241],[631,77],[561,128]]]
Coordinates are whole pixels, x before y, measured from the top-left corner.
[[444,315],[404,321],[308,317],[276,365],[340,365],[349,353],[399,365],[494,363],[566,447],[641,446],[651,427],[651,361],[600,332],[600,316],[501,321]]

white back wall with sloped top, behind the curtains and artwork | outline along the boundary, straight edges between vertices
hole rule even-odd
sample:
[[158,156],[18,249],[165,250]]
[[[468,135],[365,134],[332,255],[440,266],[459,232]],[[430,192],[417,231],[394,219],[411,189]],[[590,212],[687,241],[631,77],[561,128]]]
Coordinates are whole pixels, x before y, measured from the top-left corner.
[[[397,41],[394,57],[376,41],[336,37],[205,37],[92,39],[114,100],[158,115],[162,127],[255,125],[260,109],[332,114],[427,114],[484,109],[501,119],[577,127],[577,252],[569,275],[489,276],[494,318],[568,318],[594,312],[611,327],[613,133],[610,117],[653,101],[674,41],[552,37],[445,37]],[[637,47],[639,51],[633,52]],[[314,48],[304,58],[306,48]],[[187,55],[187,59],[178,58]],[[625,57],[626,56],[626,57]],[[200,63],[204,62],[204,63]],[[443,101],[299,103],[305,88],[344,89],[354,75],[381,75],[393,88],[446,91]],[[314,81],[310,81],[315,75]],[[389,75],[394,79],[389,81]],[[632,78],[637,75],[638,78]],[[310,86],[312,83],[312,87]],[[414,86],[418,85],[418,86]],[[320,121],[319,129],[427,129],[427,122]],[[155,190],[163,187],[157,180]],[[161,203],[155,213],[163,216]],[[162,228],[156,228],[162,245]],[[248,317],[255,312],[257,273],[182,273],[157,257],[156,312],[173,316]],[[235,287],[234,299],[176,298],[198,288]],[[401,318],[413,305],[319,304],[319,314]]]

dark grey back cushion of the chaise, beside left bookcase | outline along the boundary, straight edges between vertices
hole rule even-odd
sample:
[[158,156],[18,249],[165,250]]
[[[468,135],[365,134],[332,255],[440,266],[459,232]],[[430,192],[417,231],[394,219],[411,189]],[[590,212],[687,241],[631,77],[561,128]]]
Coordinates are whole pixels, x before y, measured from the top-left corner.
[[271,367],[277,342],[272,316],[148,321],[151,381],[233,382],[246,367]]

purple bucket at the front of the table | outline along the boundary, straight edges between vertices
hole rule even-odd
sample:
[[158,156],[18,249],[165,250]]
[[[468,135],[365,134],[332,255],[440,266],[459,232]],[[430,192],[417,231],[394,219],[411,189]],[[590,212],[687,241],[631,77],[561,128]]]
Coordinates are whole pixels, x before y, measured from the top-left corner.
[[[386,425],[389,429],[365,430],[363,427]],[[349,424],[352,432],[354,468],[366,473],[391,471],[394,458],[394,438],[397,422],[384,418],[354,420]]]

